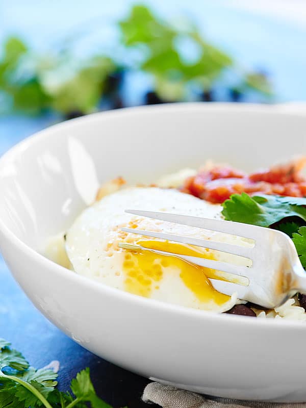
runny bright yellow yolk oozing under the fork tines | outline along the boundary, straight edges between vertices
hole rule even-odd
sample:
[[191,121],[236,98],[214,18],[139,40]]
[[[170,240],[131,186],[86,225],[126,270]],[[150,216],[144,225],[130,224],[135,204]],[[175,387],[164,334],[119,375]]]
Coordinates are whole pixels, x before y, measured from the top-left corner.
[[[196,256],[214,260],[209,250],[197,250],[190,245],[169,241],[137,241],[146,248],[175,252],[181,255]],[[124,250],[123,271],[125,272],[125,290],[136,295],[149,297],[152,290],[159,289],[159,284],[166,273],[179,273],[185,286],[201,302],[214,301],[221,305],[230,296],[217,292],[208,277],[219,277],[218,271],[190,264],[180,258],[157,254],[148,250]]]

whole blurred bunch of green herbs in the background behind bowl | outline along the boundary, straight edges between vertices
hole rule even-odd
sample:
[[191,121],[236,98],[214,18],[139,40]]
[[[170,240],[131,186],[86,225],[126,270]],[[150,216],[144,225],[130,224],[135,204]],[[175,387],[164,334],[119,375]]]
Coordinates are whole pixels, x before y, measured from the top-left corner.
[[110,79],[118,71],[145,72],[163,101],[197,100],[217,80],[226,81],[228,72],[236,78],[235,84],[228,84],[236,92],[255,90],[265,99],[272,95],[264,74],[242,69],[190,19],[167,21],[144,5],[135,5],[116,25],[120,42],[111,44],[112,52],[103,51],[110,44],[101,38],[99,52],[86,56],[78,52],[82,38],[77,33],[73,40],[63,38],[58,49],[42,52],[9,37],[0,50],[0,113],[94,112],[101,100],[107,104],[122,96],[120,85],[112,96],[109,93]]

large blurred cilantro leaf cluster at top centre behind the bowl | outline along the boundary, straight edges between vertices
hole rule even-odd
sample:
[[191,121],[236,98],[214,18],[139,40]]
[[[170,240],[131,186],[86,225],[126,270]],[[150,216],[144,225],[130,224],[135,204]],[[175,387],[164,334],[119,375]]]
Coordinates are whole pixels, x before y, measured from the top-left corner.
[[[152,74],[155,90],[164,100],[182,100],[191,81],[201,91],[209,88],[222,70],[234,65],[230,56],[202,38],[191,21],[175,27],[136,5],[119,26],[123,44],[142,50],[139,66]],[[186,57],[184,41],[197,49],[194,59]]]

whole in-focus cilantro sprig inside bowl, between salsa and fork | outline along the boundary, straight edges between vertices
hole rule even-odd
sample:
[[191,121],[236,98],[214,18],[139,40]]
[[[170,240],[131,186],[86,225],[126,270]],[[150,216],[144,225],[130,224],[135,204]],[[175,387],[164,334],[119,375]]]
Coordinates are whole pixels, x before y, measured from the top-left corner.
[[306,269],[306,197],[233,194],[223,202],[227,221],[243,222],[282,231],[292,238]]

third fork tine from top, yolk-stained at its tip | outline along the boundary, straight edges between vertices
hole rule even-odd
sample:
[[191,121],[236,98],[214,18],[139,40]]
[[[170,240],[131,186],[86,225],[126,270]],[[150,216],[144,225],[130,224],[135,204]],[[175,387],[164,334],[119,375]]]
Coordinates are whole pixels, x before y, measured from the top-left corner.
[[233,264],[227,264],[226,262],[220,262],[220,261],[213,261],[210,259],[205,259],[205,258],[198,258],[198,257],[191,257],[189,255],[180,255],[177,253],[173,252],[166,252],[166,251],[159,251],[157,249],[151,249],[151,248],[146,248],[141,245],[135,245],[135,244],[126,244],[126,243],[119,243],[120,248],[125,248],[125,249],[142,249],[142,250],[149,250],[151,252],[159,253],[161,255],[168,255],[176,258],[181,258],[184,259],[187,262],[190,262],[191,264],[196,264],[199,266],[203,266],[205,268],[211,268],[211,269],[216,269],[219,271],[223,272],[228,272],[232,273],[233,275],[239,275],[239,276],[244,276],[247,277],[248,274],[248,269],[245,266],[237,266]]

